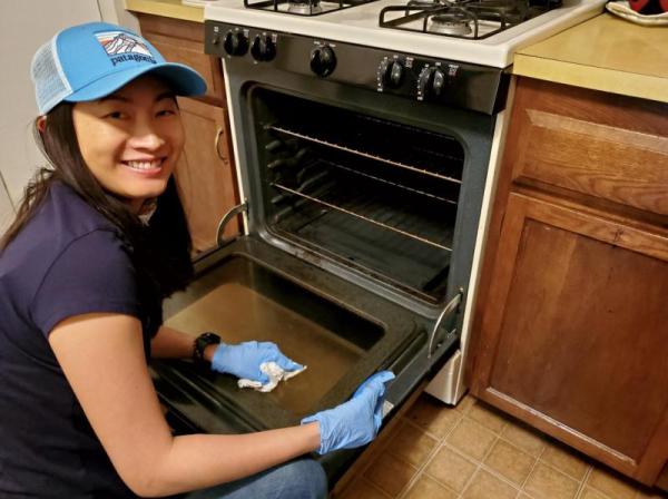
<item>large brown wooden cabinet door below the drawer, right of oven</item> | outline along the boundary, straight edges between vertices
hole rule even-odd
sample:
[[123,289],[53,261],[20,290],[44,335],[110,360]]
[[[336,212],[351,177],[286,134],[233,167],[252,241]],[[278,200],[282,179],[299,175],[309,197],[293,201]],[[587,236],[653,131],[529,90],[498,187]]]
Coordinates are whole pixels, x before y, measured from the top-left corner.
[[668,237],[513,193],[495,251],[473,393],[654,483],[668,461]]

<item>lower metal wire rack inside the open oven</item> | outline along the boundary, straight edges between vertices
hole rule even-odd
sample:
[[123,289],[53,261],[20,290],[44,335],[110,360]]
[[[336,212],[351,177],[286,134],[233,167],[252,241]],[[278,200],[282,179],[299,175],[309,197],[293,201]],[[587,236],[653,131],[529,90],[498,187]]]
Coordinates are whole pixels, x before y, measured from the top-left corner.
[[[410,209],[387,209],[386,204],[379,203],[377,197],[373,194],[355,194],[347,199],[342,199],[341,194],[334,194],[333,196],[330,196],[331,198],[327,198],[326,195],[332,193],[330,184],[320,189],[324,193],[313,195],[305,194],[298,188],[292,188],[278,183],[272,183],[271,185],[283,193],[287,193],[307,202],[315,203],[320,206],[353,216],[356,219],[364,221],[376,227],[391,231],[395,234],[400,234],[401,236],[411,238],[413,241],[419,241],[420,243],[436,247],[439,250],[452,252],[452,235],[449,233],[449,231],[443,231],[442,227],[444,226],[439,226],[439,224],[429,224],[423,217],[418,217],[416,215],[411,214]],[[415,234],[414,232],[406,229],[406,226],[410,228],[419,226],[423,229],[423,232],[426,232],[428,235],[425,236],[422,234]]]

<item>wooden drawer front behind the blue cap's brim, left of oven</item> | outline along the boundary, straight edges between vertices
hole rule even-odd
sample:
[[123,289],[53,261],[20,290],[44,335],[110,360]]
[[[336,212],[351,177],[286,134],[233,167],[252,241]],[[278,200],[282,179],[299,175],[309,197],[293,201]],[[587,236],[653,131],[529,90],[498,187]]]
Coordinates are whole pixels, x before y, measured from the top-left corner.
[[190,66],[206,80],[206,100],[225,107],[220,60],[204,53],[204,25],[139,14],[141,35],[170,62]]

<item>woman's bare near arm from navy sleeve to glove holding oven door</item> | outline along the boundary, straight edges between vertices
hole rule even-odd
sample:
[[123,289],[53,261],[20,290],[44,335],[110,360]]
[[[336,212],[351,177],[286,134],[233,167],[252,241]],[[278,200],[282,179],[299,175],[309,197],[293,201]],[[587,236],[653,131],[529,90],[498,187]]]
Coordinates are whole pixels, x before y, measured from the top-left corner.
[[320,446],[318,423],[239,436],[173,437],[148,374],[136,317],[70,317],[53,329],[49,343],[114,467],[139,496],[235,480]]

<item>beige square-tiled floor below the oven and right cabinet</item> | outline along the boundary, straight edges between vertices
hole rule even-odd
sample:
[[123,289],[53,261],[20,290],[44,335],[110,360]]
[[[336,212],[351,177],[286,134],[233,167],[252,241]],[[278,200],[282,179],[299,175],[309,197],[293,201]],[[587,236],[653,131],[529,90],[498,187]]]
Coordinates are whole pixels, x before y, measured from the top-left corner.
[[470,395],[453,409],[421,394],[373,456],[336,499],[668,497],[613,474]]

